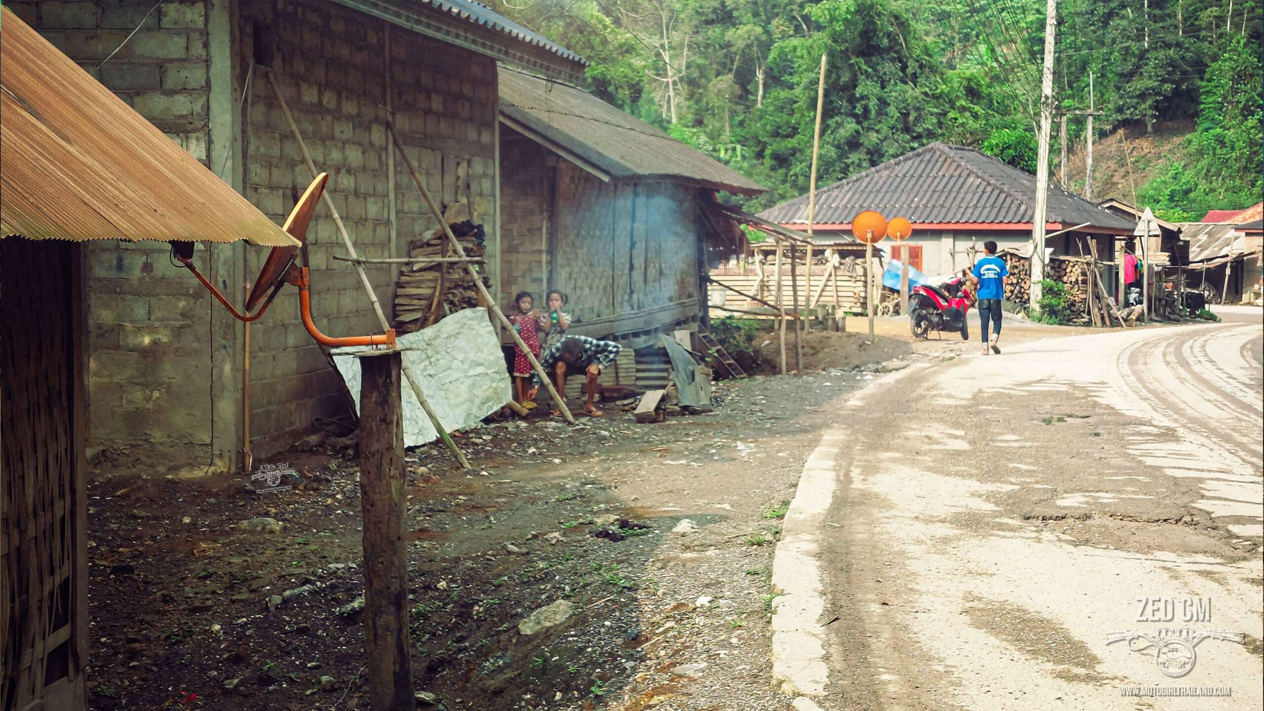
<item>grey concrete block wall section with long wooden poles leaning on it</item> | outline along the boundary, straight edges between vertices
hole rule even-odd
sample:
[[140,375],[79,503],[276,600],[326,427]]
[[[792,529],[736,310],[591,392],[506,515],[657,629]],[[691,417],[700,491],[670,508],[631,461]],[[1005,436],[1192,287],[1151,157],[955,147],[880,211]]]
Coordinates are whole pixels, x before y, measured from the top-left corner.
[[[412,177],[396,161],[397,247],[391,253],[387,72],[393,123],[410,159],[436,200],[473,200],[488,233],[494,220],[495,63],[441,42],[391,28],[334,3],[243,3],[238,80],[244,81],[257,46],[270,46],[276,78],[317,170],[330,173],[327,195],[362,257],[404,257],[408,242],[436,223]],[[255,35],[259,39],[255,39]],[[389,65],[389,68],[388,68]],[[267,76],[252,80],[245,195],[284,220],[311,182]],[[334,254],[346,248],[325,207],[307,233],[312,314],[329,335],[380,333],[356,273]],[[253,250],[246,273],[264,254]],[[398,267],[370,267],[368,276],[392,320]],[[252,329],[252,440],[257,454],[288,447],[310,431],[315,416],[346,411],[341,380],[303,330],[297,294],[286,290]]]

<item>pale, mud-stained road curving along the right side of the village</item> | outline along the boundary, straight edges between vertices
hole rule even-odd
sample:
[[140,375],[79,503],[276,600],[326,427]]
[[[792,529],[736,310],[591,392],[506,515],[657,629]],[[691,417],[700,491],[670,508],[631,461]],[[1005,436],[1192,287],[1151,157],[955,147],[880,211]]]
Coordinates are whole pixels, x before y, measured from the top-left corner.
[[[786,517],[791,550],[819,550],[782,579],[815,569],[823,592],[814,607],[786,590],[781,619],[834,619],[814,701],[1260,708],[1264,329],[1259,309],[1218,312],[916,366],[837,402],[809,462],[832,481]],[[1144,636],[1107,644],[1130,630],[1162,664]],[[811,676],[810,658],[782,662]]]

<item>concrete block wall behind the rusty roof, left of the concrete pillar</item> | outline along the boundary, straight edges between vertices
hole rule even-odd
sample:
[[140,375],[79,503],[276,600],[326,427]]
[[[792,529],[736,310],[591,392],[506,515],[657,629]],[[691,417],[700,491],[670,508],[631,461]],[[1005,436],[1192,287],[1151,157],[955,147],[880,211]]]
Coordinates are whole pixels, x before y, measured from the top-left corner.
[[[154,9],[152,0],[40,0],[5,6],[207,162],[205,3],[169,0]],[[217,305],[186,271],[168,263],[166,244],[102,240],[85,247],[90,452],[109,443],[126,447],[129,455],[157,448],[172,463],[205,463],[211,442],[207,335],[210,310]],[[207,267],[206,250],[198,249],[198,268]]]

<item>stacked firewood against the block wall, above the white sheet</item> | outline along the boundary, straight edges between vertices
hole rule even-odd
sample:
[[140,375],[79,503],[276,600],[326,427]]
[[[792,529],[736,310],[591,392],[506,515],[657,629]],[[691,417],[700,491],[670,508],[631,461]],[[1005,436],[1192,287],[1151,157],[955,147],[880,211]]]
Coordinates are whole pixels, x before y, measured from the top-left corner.
[[[456,234],[460,234],[458,232]],[[465,249],[474,268],[484,271],[482,261],[484,248],[478,244],[477,235],[459,237],[458,242]],[[413,240],[408,244],[408,257],[413,259],[437,259],[454,257],[442,233],[428,239]],[[490,287],[490,280],[482,277],[483,285]],[[410,333],[423,329],[444,316],[480,306],[478,287],[463,263],[416,263],[399,271],[396,282],[394,318],[396,330]]]

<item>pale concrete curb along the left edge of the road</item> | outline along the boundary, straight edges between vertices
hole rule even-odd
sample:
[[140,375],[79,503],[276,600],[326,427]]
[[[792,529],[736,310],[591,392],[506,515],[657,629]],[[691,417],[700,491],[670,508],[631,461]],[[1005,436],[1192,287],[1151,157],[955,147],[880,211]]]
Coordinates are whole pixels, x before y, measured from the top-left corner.
[[[853,392],[839,409],[863,405],[867,396],[930,364],[918,364],[877,378]],[[825,592],[820,571],[820,548],[825,519],[834,502],[838,454],[846,447],[847,429],[841,425],[822,434],[820,444],[804,462],[794,501],[781,524],[781,541],[772,557],[772,686],[787,696],[825,696],[829,667],[825,664]],[[799,700],[796,700],[798,702]],[[803,698],[801,706],[809,700]],[[798,706],[796,706],[798,707]]]

